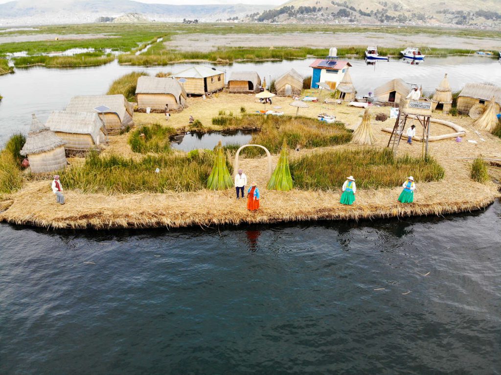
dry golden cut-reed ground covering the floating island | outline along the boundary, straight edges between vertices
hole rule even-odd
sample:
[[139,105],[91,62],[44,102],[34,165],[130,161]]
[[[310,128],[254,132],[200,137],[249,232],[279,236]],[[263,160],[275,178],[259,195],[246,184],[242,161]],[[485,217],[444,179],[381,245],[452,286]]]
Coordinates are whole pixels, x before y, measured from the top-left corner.
[[[275,98],[272,108],[295,114],[296,108],[289,106],[290,98]],[[211,119],[218,111],[224,109],[238,115],[240,107],[247,112],[263,109],[263,104],[256,102],[254,96],[243,94],[219,94],[213,98],[202,100],[191,98],[189,108],[181,113],[173,114],[169,125],[181,128],[187,125],[192,114],[204,126],[212,127]],[[318,113],[335,114],[337,119],[355,129],[361,122],[363,109],[345,105],[326,105],[311,103],[310,108],[301,109],[300,114],[315,117]],[[394,120],[377,122],[374,116],[378,112],[389,115],[389,108],[372,108],[372,126],[377,137],[376,146],[385,147],[389,134],[381,132],[381,128],[393,126]],[[241,159],[240,166],[250,180],[256,180],[261,189],[261,208],[258,212],[248,212],[245,200],[235,200],[233,189],[227,191],[197,191],[190,193],[166,194],[128,194],[105,195],[83,194],[78,191],[67,191],[67,203],[64,206],[55,203],[50,191],[49,181],[27,184],[23,190],[5,197],[0,202],[0,220],[18,224],[31,224],[50,228],[116,228],[116,227],[180,227],[190,225],[213,226],[220,224],[268,223],[295,220],[321,219],[362,219],[411,215],[441,215],[446,213],[472,211],[485,207],[499,197],[497,186],[493,183],[482,185],[469,178],[469,165],[477,156],[501,158],[501,140],[484,131],[480,136],[471,128],[473,122],[468,117],[451,117],[434,114],[433,117],[456,122],[468,130],[461,143],[444,140],[430,143],[430,154],[444,167],[445,177],[442,181],[417,182],[415,201],[403,205],[397,202],[400,187],[392,189],[365,190],[357,192],[357,200],[353,206],[339,203],[340,189],[330,192],[300,191],[290,192],[267,191],[268,181],[265,159]],[[166,124],[161,114],[135,114],[136,125],[159,122]],[[416,125],[419,125],[416,122]],[[419,130],[418,130],[419,132]],[[434,135],[448,133],[449,128],[432,124]],[[136,157],[127,144],[128,134],[110,137],[110,145],[103,152],[119,153]],[[485,142],[481,141],[483,138]],[[468,143],[476,140],[478,145]],[[342,145],[333,148],[360,147]],[[329,149],[331,149],[329,147]],[[318,149],[317,149],[318,150]],[[291,159],[317,150],[291,151]],[[408,152],[412,156],[421,155],[421,144],[415,142],[408,146],[402,140],[399,152]],[[273,155],[274,165],[278,155]],[[74,160],[74,162],[79,162]],[[346,171],[350,175],[350,171]],[[356,178],[357,176],[355,176]],[[402,176],[402,182],[406,176]]]

